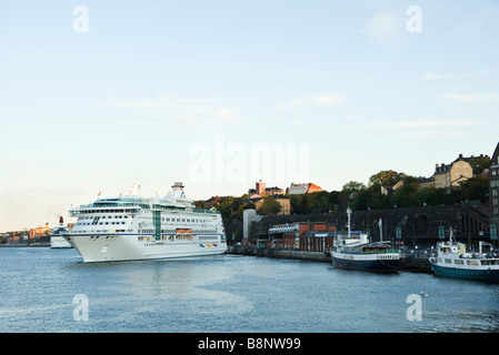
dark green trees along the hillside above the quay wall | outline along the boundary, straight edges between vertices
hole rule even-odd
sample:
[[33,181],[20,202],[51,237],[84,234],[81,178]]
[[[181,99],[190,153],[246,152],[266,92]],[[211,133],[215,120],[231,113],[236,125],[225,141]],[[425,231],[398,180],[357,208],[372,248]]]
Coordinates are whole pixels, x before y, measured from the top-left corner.
[[[381,186],[393,186],[402,181],[403,185],[392,194],[381,193]],[[448,189],[419,189],[418,179],[395,171],[380,171],[369,179],[368,185],[351,181],[341,191],[321,191],[310,194],[287,195],[291,203],[292,214],[345,212],[348,206],[353,211],[383,210],[393,207],[436,206],[459,204],[462,201],[488,201],[489,182],[481,172],[461,185]],[[253,204],[244,204],[248,195],[226,197],[216,206],[223,220],[242,219],[244,209],[255,209]],[[259,214],[277,214],[279,203],[268,197]]]

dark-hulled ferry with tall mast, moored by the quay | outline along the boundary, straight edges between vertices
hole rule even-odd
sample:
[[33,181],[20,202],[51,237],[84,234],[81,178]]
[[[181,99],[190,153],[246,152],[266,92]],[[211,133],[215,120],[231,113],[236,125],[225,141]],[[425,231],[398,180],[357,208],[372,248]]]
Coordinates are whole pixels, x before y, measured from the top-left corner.
[[392,248],[391,242],[370,242],[366,233],[351,232],[351,210],[347,213],[348,234],[338,236],[330,252],[335,267],[397,273],[400,253]]

